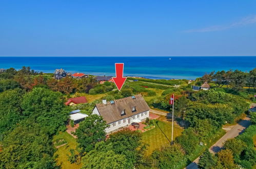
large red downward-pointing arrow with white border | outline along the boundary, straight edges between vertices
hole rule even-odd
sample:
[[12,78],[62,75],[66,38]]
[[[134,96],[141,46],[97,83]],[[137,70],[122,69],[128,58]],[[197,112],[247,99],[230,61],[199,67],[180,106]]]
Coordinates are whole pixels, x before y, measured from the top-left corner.
[[124,74],[124,64],[115,64],[115,76],[113,80],[117,89],[120,91],[125,83],[126,77],[123,77]]

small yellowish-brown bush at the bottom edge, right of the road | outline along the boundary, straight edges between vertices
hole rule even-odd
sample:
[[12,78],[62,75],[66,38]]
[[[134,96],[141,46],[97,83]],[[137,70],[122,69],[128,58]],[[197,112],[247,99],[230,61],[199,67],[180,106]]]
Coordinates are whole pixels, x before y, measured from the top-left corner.
[[225,168],[233,168],[234,167],[234,159],[233,153],[231,150],[221,150],[218,154],[218,161],[225,167]]

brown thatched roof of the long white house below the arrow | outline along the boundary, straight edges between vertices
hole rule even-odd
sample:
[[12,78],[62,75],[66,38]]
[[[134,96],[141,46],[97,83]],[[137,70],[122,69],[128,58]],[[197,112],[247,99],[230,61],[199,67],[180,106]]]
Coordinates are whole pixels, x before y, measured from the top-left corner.
[[[133,107],[136,109],[135,112],[132,111]],[[148,104],[140,94],[133,97],[107,101],[107,104],[99,103],[96,104],[96,108],[107,123],[149,111]],[[121,116],[121,111],[123,110],[125,110],[125,115]]]

